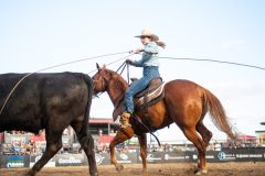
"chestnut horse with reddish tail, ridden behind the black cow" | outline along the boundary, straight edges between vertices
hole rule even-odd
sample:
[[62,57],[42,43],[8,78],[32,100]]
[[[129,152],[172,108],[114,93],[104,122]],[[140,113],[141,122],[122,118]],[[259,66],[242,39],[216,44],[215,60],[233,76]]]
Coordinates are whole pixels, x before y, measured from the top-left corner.
[[[129,86],[127,81],[117,73],[102,68],[97,65],[98,72],[93,76],[94,92],[107,91],[114,107],[114,121],[123,111],[124,95]],[[176,123],[184,133],[187,139],[197,147],[198,168],[194,170],[198,174],[206,173],[205,151],[212,138],[212,132],[203,124],[203,118],[209,111],[215,127],[226,133],[231,139],[234,139],[231,125],[225,116],[223,106],[220,100],[205,88],[195,82],[182,79],[176,79],[165,85],[165,98],[157,103],[148,107],[148,117],[145,110],[137,111],[135,114],[145,122],[149,121],[151,127],[157,130]],[[138,136],[140,144],[140,156],[142,158],[142,172],[147,169],[147,138],[148,129],[139,123],[136,118],[130,118],[131,127],[120,129],[109,144],[110,163],[120,172],[124,167],[117,163],[115,157],[115,146],[126,140],[129,140],[134,134]],[[177,138],[177,136],[174,136]]]

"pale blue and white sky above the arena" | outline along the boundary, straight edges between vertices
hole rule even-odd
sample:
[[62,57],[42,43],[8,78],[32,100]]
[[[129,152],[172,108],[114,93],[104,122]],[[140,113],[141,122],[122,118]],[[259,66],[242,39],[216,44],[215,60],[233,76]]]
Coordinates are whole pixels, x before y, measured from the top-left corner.
[[[265,67],[263,0],[0,0],[0,73],[32,73],[52,65],[141,46],[134,36],[152,29],[167,43],[160,56],[237,62]],[[98,58],[46,72],[95,69],[120,56]],[[139,58],[140,56],[135,56]],[[109,68],[117,69],[120,63]],[[265,72],[214,63],[161,61],[165,80],[190,79],[222,101],[240,132],[264,130]],[[93,74],[92,74],[93,75]],[[139,68],[131,76],[139,77]],[[106,95],[94,99],[92,117],[108,118]],[[224,139],[210,118],[214,139]],[[184,139],[176,125],[158,132]]]

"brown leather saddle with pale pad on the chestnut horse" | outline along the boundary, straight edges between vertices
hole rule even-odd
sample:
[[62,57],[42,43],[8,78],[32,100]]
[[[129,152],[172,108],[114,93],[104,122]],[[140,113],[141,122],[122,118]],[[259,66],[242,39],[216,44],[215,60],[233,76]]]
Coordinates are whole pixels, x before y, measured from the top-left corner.
[[162,78],[153,78],[145,90],[134,97],[135,111],[140,111],[161,100],[165,97],[165,85],[166,82],[162,81]]

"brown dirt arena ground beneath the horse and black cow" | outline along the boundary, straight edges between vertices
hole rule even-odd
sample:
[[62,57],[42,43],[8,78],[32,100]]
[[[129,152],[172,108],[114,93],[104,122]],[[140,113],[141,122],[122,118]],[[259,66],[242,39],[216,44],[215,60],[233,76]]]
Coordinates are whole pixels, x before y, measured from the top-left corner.
[[[149,164],[148,176],[192,176],[194,164]],[[0,168],[0,176],[22,176],[29,168]],[[98,166],[100,176],[135,176],[141,174],[141,165],[125,165],[123,173],[114,166]],[[206,176],[265,176],[263,163],[210,163]],[[88,176],[88,169],[82,167],[43,168],[38,176]]]

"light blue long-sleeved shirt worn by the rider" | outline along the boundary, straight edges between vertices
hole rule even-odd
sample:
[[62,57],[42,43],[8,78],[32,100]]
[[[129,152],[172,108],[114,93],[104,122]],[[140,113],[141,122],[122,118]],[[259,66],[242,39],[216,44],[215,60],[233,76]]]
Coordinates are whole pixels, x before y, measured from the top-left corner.
[[159,66],[158,59],[158,45],[155,42],[150,42],[145,45],[142,48],[142,57],[139,61],[135,61],[131,65],[136,67],[145,67],[145,66]]

